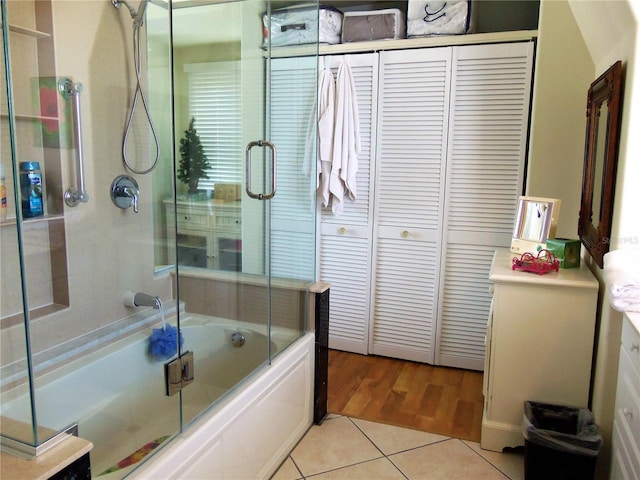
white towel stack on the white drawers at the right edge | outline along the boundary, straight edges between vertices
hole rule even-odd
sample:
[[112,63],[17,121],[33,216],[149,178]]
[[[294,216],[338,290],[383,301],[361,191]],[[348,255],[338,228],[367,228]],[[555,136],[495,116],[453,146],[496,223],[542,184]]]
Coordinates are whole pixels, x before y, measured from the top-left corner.
[[614,250],[603,262],[611,306],[619,312],[640,312],[640,250]]

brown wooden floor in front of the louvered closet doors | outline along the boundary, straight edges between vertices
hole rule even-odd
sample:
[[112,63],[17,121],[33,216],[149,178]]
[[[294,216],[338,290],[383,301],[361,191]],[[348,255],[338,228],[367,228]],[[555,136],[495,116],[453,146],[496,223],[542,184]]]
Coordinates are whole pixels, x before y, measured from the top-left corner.
[[329,350],[329,412],[480,441],[482,372]]

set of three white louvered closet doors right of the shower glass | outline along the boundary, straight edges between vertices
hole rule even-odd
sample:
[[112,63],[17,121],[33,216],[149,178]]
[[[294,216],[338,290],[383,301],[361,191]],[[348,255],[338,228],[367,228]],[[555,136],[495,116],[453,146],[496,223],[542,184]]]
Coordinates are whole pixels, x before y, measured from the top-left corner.
[[482,370],[493,250],[522,192],[533,42],[331,55],[354,72],[358,198],[321,209],[331,348]]

